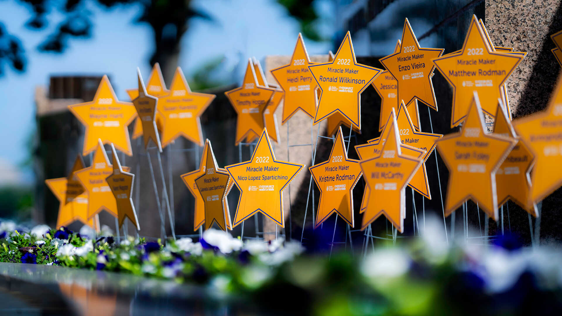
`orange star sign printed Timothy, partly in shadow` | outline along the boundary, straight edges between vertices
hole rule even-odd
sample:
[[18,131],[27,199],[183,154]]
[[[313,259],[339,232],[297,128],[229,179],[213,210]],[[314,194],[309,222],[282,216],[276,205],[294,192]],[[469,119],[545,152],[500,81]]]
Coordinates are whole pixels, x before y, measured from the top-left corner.
[[273,93],[275,93],[275,89],[258,84],[252,60],[248,58],[242,87],[224,93],[238,114],[235,145],[246,137],[252,138],[253,134],[258,135],[264,129],[264,112]]

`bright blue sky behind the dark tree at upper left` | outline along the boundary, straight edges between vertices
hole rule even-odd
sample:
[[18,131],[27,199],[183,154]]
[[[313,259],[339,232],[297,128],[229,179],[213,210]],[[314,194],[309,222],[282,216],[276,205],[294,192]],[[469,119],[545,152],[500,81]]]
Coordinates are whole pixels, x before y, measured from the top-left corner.
[[[330,1],[317,2],[326,19],[323,30],[325,34],[331,34]],[[0,173],[22,171],[27,181],[33,180],[29,170],[19,170],[17,165],[28,155],[25,141],[35,128],[35,87],[47,85],[49,74],[108,74],[117,97],[126,101],[125,89],[137,84],[136,67],[140,67],[145,78],[148,76],[151,67],[147,60],[153,50],[153,35],[149,26],[132,23],[139,7],[117,6],[112,10],[103,10],[94,3],[88,3],[95,23],[93,37],[72,39],[65,53],[55,54],[39,53],[37,46],[63,19],[59,12],[48,15],[48,29],[31,31],[24,26],[30,17],[28,8],[15,0],[0,2],[1,21],[8,33],[21,39],[28,58],[25,73],[15,73],[4,66],[4,75],[0,77],[0,135],[4,136],[0,149]],[[191,71],[217,56],[225,55],[228,57],[227,66],[234,67],[238,61],[237,52],[242,52],[243,58],[256,56],[259,59],[266,55],[291,55],[299,31],[298,23],[288,17],[284,8],[274,0],[247,3],[194,1],[194,6],[208,12],[215,22],[192,21],[189,33],[182,39],[179,66],[188,78]],[[4,14],[6,12],[8,14]],[[311,55],[326,53],[332,48],[330,42],[315,43],[305,39],[305,43]],[[235,79],[240,80],[241,76],[238,73]]]

